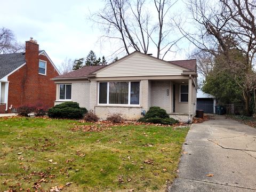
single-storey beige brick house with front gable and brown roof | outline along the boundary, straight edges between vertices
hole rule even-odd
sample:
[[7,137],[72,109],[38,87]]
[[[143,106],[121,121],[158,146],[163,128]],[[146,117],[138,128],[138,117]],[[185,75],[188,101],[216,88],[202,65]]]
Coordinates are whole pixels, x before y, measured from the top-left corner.
[[100,118],[119,113],[138,119],[151,106],[183,122],[195,115],[196,60],[164,61],[135,51],[110,65],[86,66],[52,80],[55,105],[78,102]]

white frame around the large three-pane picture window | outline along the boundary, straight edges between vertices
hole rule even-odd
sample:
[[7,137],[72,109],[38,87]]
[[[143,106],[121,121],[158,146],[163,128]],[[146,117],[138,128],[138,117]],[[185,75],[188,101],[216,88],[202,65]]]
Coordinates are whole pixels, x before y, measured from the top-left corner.
[[[111,104],[109,103],[109,83],[110,82],[128,82],[128,104]],[[140,98],[141,98],[141,83],[140,83],[140,98],[139,104],[130,104],[131,102],[131,82],[139,82],[140,81],[103,81],[98,82],[98,105],[99,106],[117,106],[117,107],[139,107],[140,106]],[[100,102],[100,83],[107,83],[107,103],[99,103]]]

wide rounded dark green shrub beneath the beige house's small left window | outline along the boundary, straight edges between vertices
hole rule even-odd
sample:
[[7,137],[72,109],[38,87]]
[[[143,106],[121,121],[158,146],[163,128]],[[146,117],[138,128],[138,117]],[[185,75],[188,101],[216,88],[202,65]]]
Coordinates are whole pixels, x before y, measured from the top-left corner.
[[81,119],[85,111],[87,110],[81,109],[77,102],[68,101],[50,108],[48,116],[51,118]]

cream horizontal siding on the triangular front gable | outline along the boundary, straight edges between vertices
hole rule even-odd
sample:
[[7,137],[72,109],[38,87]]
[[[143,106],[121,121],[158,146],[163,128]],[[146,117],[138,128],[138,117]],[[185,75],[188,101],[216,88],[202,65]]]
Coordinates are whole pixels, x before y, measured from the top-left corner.
[[97,73],[97,77],[181,75],[182,69],[135,53]]

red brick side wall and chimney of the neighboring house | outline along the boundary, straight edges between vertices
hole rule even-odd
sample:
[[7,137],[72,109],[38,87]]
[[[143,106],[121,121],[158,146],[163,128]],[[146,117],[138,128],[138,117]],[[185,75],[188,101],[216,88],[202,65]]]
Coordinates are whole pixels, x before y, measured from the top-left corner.
[[[8,77],[8,107],[17,108],[22,105],[54,106],[56,86],[51,78],[58,72],[45,55],[38,55],[38,44],[26,42],[26,65]],[[46,75],[38,74],[39,59],[47,62]],[[10,112],[10,111],[9,111]]]

